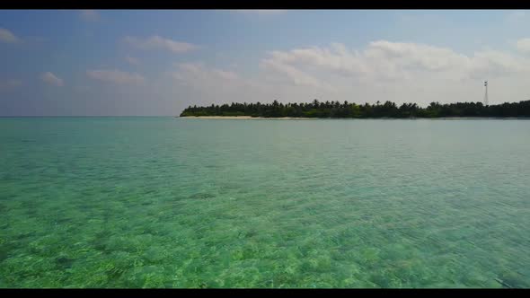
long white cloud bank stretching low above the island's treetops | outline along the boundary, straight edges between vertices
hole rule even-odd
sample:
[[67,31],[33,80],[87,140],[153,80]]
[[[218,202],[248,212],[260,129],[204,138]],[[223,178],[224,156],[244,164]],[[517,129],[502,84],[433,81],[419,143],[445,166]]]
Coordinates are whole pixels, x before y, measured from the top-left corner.
[[489,80],[490,103],[496,104],[527,100],[530,79],[530,57],[508,50],[462,53],[389,40],[359,48],[333,43],[275,50],[255,66],[260,67],[254,73],[246,67],[236,72],[235,67],[200,62],[176,64],[142,91],[177,110],[193,104],[313,99],[427,106],[432,101],[482,101],[483,80]]

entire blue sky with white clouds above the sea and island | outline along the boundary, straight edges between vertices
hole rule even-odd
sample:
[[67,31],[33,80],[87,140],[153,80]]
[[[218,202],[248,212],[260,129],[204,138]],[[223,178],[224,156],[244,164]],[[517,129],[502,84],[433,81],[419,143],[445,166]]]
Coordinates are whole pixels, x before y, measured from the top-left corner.
[[0,116],[530,100],[530,11],[0,11]]

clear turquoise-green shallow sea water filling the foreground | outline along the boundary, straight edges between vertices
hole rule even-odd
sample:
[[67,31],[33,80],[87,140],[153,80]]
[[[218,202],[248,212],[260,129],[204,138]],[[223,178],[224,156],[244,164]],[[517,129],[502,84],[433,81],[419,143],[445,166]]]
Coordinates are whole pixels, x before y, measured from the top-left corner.
[[1,118],[0,215],[0,287],[529,287],[530,121]]

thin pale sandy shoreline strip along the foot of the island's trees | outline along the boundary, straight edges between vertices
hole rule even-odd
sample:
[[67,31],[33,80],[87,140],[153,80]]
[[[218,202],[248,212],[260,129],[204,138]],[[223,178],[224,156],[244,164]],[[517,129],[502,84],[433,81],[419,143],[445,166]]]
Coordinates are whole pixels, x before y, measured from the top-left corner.
[[195,119],[240,119],[240,120],[322,120],[322,119],[382,119],[382,120],[530,120],[528,117],[438,117],[438,118],[309,118],[309,117],[251,117],[251,116],[176,116],[175,118],[195,118]]

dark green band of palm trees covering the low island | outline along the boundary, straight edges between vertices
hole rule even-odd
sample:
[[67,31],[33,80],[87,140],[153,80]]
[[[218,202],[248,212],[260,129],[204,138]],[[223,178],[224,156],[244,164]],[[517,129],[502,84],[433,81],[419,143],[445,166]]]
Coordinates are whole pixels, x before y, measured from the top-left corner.
[[318,101],[310,103],[234,103],[221,106],[188,107],[185,116],[252,116],[265,118],[440,118],[440,117],[530,117],[530,101],[505,102],[484,106],[481,102],[456,102],[440,104],[431,102],[427,108],[416,103],[397,106],[392,101],[381,104],[359,105],[344,101]]

